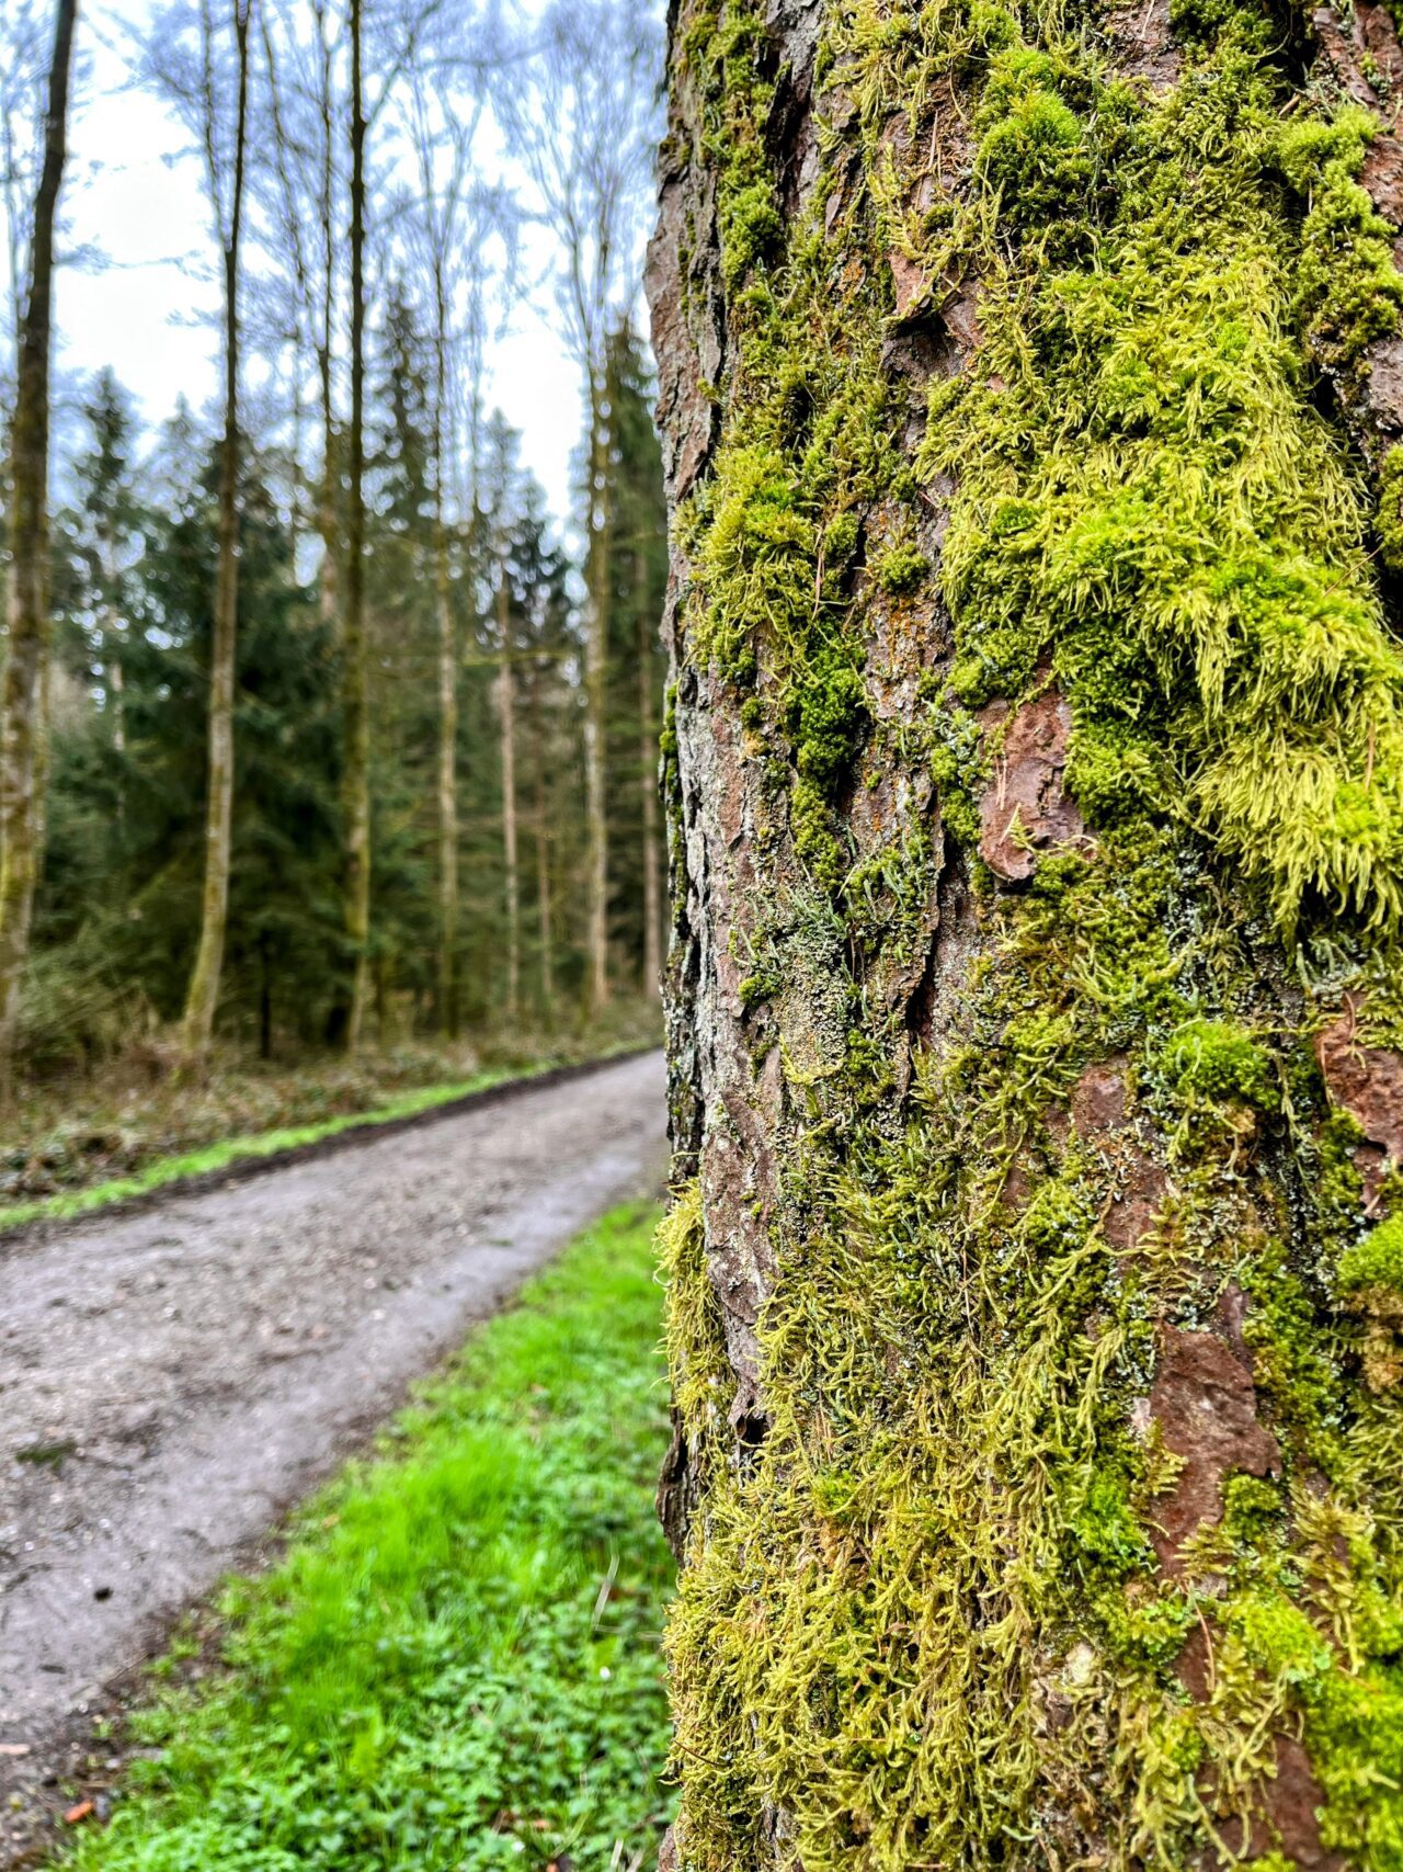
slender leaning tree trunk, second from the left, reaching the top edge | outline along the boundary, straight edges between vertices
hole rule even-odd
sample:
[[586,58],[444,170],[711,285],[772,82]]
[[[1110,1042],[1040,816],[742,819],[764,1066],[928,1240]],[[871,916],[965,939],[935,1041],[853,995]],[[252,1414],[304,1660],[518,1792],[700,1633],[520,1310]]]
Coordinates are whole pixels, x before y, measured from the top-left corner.
[[[251,0],[234,0],[239,99],[234,125],[234,193],[224,240],[224,442],[219,455],[219,563],[215,569],[213,642],[210,648],[210,760],[204,809],[204,897],[200,947],[195,955],[181,1045],[204,1060],[215,1026],[219,977],[228,921],[228,844],[234,824],[234,666],[239,620],[239,234],[243,228],[243,155],[249,122]],[[211,178],[211,189],[215,180]]]

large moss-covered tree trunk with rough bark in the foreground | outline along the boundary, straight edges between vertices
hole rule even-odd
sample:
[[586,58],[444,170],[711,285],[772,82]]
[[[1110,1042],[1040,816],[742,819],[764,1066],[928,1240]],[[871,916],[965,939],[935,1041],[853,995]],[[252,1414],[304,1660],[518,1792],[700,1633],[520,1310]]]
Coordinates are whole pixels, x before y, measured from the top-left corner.
[[1390,15],[670,79],[664,1859],[1396,1868]]

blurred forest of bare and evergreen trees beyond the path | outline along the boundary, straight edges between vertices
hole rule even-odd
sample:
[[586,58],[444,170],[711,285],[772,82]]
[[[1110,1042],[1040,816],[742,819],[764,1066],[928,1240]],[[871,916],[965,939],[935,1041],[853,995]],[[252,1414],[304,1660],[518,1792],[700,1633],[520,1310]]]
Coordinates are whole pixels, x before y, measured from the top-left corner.
[[[107,161],[82,144],[82,22],[58,204],[51,9],[9,6],[0,30],[4,1073],[22,1090],[133,1056],[208,1073],[211,1048],[572,1031],[612,998],[644,1031],[662,930],[666,522],[638,328],[655,22],[445,0],[99,9],[103,82],[148,97],[168,161],[198,170],[187,268],[219,285],[223,382],[195,401],[176,384],[166,410],[110,365],[47,393],[26,376],[43,301],[62,358],[64,292],[101,298],[123,255],[65,227],[73,202],[86,230],[82,172]],[[490,397],[522,320],[576,384],[552,412],[574,444],[557,511]]]

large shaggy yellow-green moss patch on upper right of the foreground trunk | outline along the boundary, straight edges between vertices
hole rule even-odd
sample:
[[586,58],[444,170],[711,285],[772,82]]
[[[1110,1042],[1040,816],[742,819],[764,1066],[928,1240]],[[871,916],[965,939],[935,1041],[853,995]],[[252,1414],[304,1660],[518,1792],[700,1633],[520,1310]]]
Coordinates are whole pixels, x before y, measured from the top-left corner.
[[1399,286],[1379,311],[1341,258],[1373,279],[1375,230],[1338,221],[1317,279],[1309,217],[1293,230],[1266,176],[1323,159],[1339,182],[1354,140],[1347,122],[1283,150],[1268,77],[1214,52],[1121,124],[1087,264],[988,281],[982,365],[935,388],[924,451],[960,481],[943,577],[965,698],[1018,698],[1051,661],[1072,788],[1134,807],[1167,753],[1186,816],[1283,925],[1309,893],[1403,914],[1403,657],[1298,326],[1373,333]]

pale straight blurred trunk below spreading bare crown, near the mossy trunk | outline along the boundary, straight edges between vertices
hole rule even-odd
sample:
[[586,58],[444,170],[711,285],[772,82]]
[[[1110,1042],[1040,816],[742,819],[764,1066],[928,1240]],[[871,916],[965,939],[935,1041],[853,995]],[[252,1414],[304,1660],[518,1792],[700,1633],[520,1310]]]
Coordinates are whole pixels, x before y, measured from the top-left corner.
[[604,423],[604,371],[589,374],[589,543],[586,586],[586,1002],[591,1015],[610,998],[610,848],[604,764],[608,758],[608,434]]

